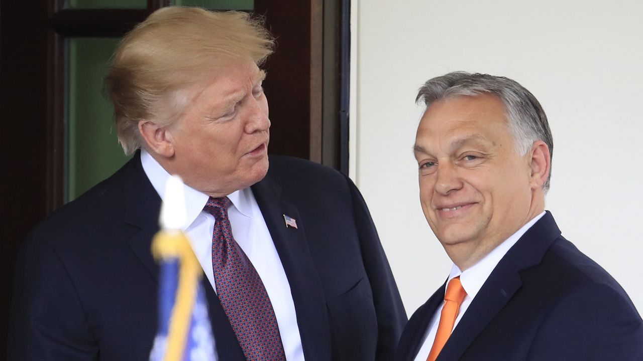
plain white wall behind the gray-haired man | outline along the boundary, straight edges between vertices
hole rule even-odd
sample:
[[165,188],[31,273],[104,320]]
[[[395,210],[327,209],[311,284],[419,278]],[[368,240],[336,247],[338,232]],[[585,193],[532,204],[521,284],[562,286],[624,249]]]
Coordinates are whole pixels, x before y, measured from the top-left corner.
[[643,1],[352,1],[351,175],[409,314],[451,261],[418,200],[417,88],[464,70],[509,76],[554,134],[547,209],[643,312]]

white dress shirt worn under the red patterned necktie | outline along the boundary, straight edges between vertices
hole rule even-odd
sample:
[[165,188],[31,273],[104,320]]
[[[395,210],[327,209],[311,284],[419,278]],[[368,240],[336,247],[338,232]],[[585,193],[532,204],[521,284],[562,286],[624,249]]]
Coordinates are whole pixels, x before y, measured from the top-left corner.
[[[165,183],[170,174],[148,152],[141,150],[143,170],[161,199],[165,197]],[[186,225],[183,231],[192,244],[203,271],[212,288],[217,291],[212,269],[212,233],[215,218],[203,207],[208,195],[189,186],[184,186]],[[285,276],[273,238],[270,236],[264,216],[250,188],[240,189],[228,195],[232,205],[228,218],[232,235],[261,277],[270,302],[275,310],[279,333],[289,361],[303,360],[302,339],[297,326],[293,296]],[[216,340],[215,340],[216,342]]]

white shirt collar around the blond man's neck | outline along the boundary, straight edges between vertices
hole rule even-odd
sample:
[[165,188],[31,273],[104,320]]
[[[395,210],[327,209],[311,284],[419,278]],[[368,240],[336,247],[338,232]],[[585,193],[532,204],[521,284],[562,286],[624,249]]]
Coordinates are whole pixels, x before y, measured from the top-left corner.
[[[145,149],[141,149],[141,165],[143,166],[145,175],[147,175],[152,186],[156,189],[156,193],[159,194],[161,200],[165,199],[165,183],[167,183],[167,180],[170,178],[170,173],[168,173],[165,168],[163,168],[163,166],[161,166],[161,164],[159,164]],[[185,231],[194,222],[197,216],[201,214],[203,207],[205,207],[205,204],[208,202],[208,198],[210,197],[185,184],[183,185],[183,193],[185,194],[186,222],[181,229]],[[253,216],[250,197],[250,188],[240,189],[228,195],[233,206],[235,206],[242,215],[247,217]]]

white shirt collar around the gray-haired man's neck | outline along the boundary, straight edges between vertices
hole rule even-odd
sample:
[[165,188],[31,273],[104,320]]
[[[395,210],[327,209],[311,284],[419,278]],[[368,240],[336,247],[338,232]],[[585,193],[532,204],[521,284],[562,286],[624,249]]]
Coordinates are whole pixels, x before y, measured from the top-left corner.
[[467,292],[467,297],[473,299],[476,297],[482,285],[484,285],[493,269],[496,268],[498,262],[507,254],[509,249],[520,240],[520,237],[529,230],[532,225],[534,225],[542,216],[545,215],[545,211],[535,216],[523,225],[516,233],[512,234],[505,242],[500,243],[498,247],[494,248],[493,251],[489,252],[482,260],[478,261],[475,265],[469,267],[468,269],[462,272],[457,265],[451,267],[451,273],[449,274],[448,281],[451,279],[460,276],[460,283],[462,283],[462,288]]

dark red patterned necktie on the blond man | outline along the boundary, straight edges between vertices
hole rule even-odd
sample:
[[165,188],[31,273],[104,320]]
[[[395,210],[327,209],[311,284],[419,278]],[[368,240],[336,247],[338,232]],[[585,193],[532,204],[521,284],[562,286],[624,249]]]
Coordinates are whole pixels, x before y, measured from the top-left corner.
[[212,268],[217,295],[248,361],[284,360],[284,346],[264,283],[232,237],[228,197],[208,199],[204,211],[215,218]]

